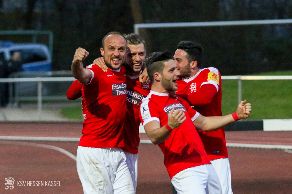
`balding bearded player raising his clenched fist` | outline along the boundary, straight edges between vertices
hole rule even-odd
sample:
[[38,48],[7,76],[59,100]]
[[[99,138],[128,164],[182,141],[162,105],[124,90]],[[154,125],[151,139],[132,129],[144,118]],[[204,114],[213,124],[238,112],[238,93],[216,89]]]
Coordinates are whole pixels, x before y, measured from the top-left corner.
[[118,32],[108,33],[100,48],[109,70],[83,68],[88,56],[78,48],[72,61],[74,77],[82,87],[83,129],[77,149],[77,172],[84,193],[133,194],[131,173],[126,164],[124,121],[126,119],[127,41]]

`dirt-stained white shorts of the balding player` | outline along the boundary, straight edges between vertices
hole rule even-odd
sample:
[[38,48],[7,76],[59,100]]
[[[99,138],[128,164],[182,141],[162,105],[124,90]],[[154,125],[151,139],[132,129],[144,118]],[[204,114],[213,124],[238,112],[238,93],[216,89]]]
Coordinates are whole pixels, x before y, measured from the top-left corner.
[[77,149],[77,172],[84,194],[134,194],[126,156],[121,148]]

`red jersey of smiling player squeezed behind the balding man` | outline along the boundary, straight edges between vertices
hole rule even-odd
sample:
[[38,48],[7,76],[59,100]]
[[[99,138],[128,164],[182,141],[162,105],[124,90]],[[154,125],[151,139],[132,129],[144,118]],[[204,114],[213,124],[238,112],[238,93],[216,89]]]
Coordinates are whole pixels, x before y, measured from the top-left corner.
[[127,114],[123,151],[128,151],[132,154],[138,153],[140,143],[139,126],[141,123],[139,110],[142,99],[149,94],[150,89],[151,84],[139,82],[139,75],[133,77],[127,75]]

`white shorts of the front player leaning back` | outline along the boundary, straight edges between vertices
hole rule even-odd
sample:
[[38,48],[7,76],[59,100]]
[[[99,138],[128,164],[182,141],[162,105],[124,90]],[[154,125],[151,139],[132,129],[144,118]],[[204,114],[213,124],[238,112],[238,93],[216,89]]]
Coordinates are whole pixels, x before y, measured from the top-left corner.
[[171,179],[178,194],[222,194],[218,176],[211,164],[187,168]]

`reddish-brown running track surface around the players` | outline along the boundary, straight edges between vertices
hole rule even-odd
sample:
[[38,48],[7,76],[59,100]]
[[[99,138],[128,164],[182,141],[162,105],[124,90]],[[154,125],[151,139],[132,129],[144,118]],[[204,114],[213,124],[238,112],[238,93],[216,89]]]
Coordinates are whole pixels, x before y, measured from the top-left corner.
[[[0,136],[80,137],[81,128],[81,123],[0,123]],[[141,134],[141,139],[148,138]],[[292,131],[226,132],[226,140],[227,143],[292,145]],[[74,155],[78,146],[78,142],[29,142],[60,147]],[[4,140],[0,140],[0,147],[0,193],[83,193],[76,162],[65,154]],[[275,149],[229,148],[228,151],[234,194],[292,193],[292,154]],[[5,190],[4,178],[8,177],[15,178],[13,190]],[[18,181],[60,181],[61,186],[18,186]],[[141,193],[171,194],[163,154],[156,145],[140,144],[139,147],[137,194]]]

